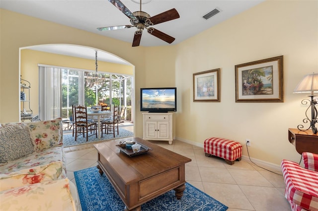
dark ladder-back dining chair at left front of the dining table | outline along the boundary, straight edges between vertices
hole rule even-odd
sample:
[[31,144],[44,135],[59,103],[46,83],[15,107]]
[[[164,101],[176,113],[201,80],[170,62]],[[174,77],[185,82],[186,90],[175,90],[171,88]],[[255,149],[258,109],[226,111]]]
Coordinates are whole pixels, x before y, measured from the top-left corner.
[[[90,132],[90,135],[88,135],[88,132]],[[89,136],[94,134],[97,138],[97,124],[94,121],[88,121],[86,106],[75,106],[75,141],[81,134],[83,137],[86,134],[86,141],[88,141]]]

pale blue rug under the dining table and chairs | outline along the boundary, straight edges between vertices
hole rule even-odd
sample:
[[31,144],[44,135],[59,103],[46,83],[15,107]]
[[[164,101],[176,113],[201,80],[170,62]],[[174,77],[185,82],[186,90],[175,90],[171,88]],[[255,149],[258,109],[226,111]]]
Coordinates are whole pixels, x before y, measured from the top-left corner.
[[106,141],[106,140],[111,140],[111,139],[120,139],[120,138],[125,138],[125,137],[130,137],[133,136],[134,133],[119,128],[119,134],[117,135],[117,132],[115,132],[115,138],[113,134],[103,134],[103,137],[96,138],[95,135],[89,136],[88,141],[86,142],[86,137],[83,138],[83,136],[78,136],[77,140],[75,141],[75,137],[73,137],[72,132],[69,134],[63,134],[63,146],[64,147],[70,147],[70,146],[76,146],[80,144],[87,144],[87,143],[92,143],[92,142],[100,142],[100,141]]

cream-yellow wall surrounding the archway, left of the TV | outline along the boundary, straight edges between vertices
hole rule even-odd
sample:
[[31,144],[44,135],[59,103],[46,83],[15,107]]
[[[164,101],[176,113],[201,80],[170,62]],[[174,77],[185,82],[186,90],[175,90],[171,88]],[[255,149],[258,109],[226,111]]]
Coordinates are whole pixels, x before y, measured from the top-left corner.
[[[79,29],[0,10],[0,122],[19,119],[19,49],[45,44],[70,44],[100,49],[135,65],[135,91],[144,87],[145,49]],[[139,100],[139,95],[135,95]],[[137,113],[138,114],[138,113]],[[142,116],[135,115],[135,135],[142,137]]]

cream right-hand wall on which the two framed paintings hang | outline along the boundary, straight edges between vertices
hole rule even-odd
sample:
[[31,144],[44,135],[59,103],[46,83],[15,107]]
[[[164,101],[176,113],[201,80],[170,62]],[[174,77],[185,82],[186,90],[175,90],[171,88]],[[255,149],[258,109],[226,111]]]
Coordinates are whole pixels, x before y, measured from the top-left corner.
[[[235,65],[284,56],[284,103],[236,103]],[[306,95],[293,94],[305,74],[318,72],[318,1],[267,0],[177,46],[179,89],[176,136],[203,146],[208,137],[243,144],[249,154],[279,165],[299,162],[288,128],[305,117]],[[194,103],[192,74],[221,68],[221,102]],[[182,122],[182,124],[181,124]]]

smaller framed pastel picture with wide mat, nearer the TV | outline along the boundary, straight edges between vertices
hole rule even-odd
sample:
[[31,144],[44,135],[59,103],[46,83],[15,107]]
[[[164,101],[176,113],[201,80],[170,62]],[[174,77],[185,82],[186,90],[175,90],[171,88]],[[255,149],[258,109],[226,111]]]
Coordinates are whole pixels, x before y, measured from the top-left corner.
[[220,69],[193,73],[193,102],[220,102]]

